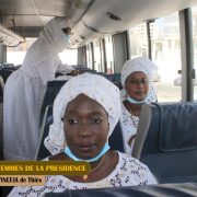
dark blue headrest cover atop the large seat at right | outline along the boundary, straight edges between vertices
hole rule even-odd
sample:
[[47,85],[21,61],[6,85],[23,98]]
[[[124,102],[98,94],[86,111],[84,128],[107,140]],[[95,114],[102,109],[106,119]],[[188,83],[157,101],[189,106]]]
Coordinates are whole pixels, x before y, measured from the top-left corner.
[[161,113],[160,150],[181,151],[197,149],[197,103],[157,106]]

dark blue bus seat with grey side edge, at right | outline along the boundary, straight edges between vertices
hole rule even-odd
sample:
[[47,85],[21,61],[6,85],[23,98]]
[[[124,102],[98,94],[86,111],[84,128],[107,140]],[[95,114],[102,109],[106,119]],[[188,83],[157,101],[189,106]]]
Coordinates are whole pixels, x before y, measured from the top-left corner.
[[197,103],[150,104],[141,109],[132,157],[159,183],[197,183]]

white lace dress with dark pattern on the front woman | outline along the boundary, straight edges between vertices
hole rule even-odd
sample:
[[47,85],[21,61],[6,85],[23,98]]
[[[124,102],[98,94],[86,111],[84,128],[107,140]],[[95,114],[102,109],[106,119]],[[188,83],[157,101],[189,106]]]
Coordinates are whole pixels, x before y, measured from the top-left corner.
[[118,187],[157,184],[149,169],[138,160],[118,152],[116,169],[105,178],[93,183],[73,182],[62,175],[45,177],[44,186],[14,187],[9,197],[37,197],[46,193],[62,193],[66,189],[89,189],[101,187]]

